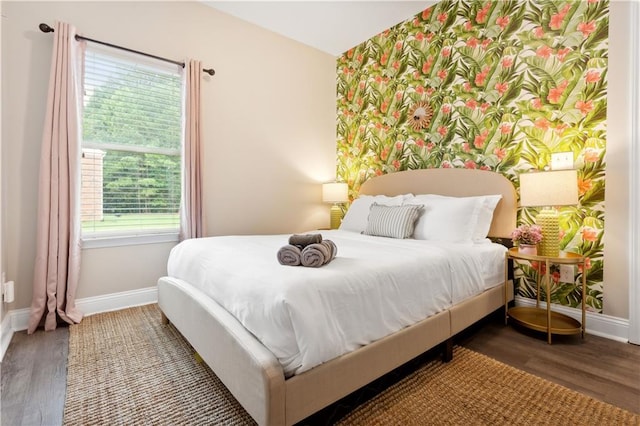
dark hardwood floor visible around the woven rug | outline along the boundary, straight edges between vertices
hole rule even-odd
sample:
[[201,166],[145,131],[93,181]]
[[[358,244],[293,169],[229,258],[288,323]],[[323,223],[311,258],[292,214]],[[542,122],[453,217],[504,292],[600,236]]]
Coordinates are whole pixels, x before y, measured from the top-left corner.
[[[68,342],[66,327],[14,335],[0,365],[2,425],[62,424]],[[543,334],[505,326],[500,311],[465,330],[455,344],[640,414],[640,346],[592,335],[554,336],[548,345]],[[303,423],[331,424],[437,356],[429,351]]]

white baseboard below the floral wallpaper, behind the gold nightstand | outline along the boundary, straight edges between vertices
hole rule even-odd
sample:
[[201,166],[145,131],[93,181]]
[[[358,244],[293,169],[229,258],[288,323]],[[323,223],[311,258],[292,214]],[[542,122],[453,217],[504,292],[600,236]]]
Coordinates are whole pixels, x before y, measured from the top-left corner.
[[[534,299],[516,296],[516,306],[536,306]],[[545,302],[540,302],[540,307],[547,308]],[[553,305],[553,311],[560,312],[582,322],[582,311],[562,305]],[[612,317],[610,315],[597,314],[587,311],[586,332],[594,336],[605,337],[618,342],[629,342],[629,320]]]

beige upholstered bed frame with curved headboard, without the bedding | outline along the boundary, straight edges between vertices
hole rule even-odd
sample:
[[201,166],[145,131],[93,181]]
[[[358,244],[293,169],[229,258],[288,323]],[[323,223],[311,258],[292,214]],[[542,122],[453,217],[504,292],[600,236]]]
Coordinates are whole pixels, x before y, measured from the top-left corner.
[[[494,172],[464,169],[398,172],[368,180],[360,192],[390,196],[409,192],[452,196],[502,194],[489,236],[509,238],[516,224],[514,187]],[[504,306],[504,285],[288,379],[275,356],[260,341],[188,283],[161,278],[158,304],[163,320],[173,323],[258,424],[291,425],[436,345],[446,343],[450,347],[454,335]],[[512,291],[507,293],[511,295]]]

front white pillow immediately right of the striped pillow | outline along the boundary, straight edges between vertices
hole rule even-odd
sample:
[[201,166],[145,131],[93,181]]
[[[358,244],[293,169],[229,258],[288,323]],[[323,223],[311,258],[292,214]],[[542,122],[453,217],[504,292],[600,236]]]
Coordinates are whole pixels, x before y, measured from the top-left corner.
[[416,195],[407,204],[424,205],[413,231],[416,240],[472,242],[482,200],[474,197]]

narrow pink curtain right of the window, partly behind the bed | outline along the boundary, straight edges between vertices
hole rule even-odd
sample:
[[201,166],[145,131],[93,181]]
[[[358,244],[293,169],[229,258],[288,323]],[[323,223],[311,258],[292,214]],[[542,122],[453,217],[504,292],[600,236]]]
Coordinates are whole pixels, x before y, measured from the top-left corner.
[[180,204],[180,240],[204,235],[202,206],[202,132],[200,127],[200,81],[202,63],[185,64],[185,117]]

